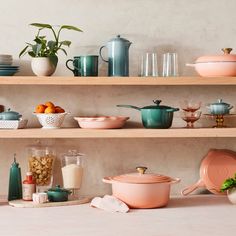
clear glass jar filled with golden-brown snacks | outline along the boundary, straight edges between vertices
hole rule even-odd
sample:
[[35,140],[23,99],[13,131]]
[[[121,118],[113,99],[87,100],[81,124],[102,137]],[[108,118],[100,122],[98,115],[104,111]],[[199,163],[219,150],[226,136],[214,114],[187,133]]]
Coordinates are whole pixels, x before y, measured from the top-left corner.
[[52,187],[55,149],[49,146],[28,147],[29,171],[36,183],[36,191],[43,192]]

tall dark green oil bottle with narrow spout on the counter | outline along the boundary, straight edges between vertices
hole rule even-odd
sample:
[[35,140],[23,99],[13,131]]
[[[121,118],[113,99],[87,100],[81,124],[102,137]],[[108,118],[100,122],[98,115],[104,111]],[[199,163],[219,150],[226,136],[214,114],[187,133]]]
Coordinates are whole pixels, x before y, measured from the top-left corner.
[[16,154],[11,164],[8,188],[8,201],[22,199],[21,169],[16,162]]

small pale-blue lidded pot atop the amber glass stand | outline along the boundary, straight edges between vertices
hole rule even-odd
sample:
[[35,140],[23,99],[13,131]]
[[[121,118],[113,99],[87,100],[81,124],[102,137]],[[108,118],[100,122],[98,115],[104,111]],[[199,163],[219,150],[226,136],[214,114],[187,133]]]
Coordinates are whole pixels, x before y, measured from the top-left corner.
[[217,102],[208,104],[207,108],[212,115],[226,115],[229,114],[233,106],[223,102],[222,99],[218,99]]

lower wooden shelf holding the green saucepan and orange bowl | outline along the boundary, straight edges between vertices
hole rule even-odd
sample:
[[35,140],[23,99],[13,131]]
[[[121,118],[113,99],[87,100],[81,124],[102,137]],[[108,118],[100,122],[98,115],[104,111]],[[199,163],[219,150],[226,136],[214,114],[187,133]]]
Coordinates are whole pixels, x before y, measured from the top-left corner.
[[171,129],[18,129],[0,130],[0,138],[236,138],[236,128]]

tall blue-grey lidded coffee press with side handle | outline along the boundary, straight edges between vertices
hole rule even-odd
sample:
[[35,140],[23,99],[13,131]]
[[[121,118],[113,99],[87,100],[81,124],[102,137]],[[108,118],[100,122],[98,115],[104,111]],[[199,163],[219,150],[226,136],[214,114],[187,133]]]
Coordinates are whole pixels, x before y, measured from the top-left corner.
[[[103,61],[108,62],[108,76],[129,76],[129,47],[131,42],[117,35],[106,46],[100,48]],[[102,56],[102,49],[108,49],[108,60]]]

